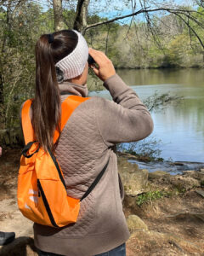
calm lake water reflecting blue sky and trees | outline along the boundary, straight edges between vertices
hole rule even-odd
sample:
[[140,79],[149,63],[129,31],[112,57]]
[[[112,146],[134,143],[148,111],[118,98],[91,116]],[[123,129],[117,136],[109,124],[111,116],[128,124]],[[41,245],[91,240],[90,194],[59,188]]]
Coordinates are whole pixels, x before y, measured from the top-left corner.
[[[157,92],[182,96],[183,101],[152,113],[155,128],[150,137],[161,140],[165,160],[204,162],[204,70],[119,70],[141,99]],[[107,90],[90,96],[111,96]]]

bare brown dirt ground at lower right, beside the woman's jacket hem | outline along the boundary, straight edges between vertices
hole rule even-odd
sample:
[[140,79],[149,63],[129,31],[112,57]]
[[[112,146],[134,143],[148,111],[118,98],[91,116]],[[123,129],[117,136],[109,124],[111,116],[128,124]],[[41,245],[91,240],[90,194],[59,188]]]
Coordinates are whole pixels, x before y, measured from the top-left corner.
[[204,198],[195,191],[125,208],[125,213],[138,215],[149,229],[132,234],[127,255],[204,255]]

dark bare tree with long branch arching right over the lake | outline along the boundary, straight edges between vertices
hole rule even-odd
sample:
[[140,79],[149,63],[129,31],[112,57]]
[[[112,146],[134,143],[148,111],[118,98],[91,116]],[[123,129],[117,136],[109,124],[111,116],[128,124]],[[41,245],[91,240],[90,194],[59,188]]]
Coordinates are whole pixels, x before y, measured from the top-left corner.
[[[54,0],[55,2],[56,0]],[[58,0],[59,1],[59,0]],[[144,15],[144,19],[147,22],[147,25],[150,26],[150,31],[152,32],[152,35],[154,38],[156,38],[156,32],[154,31],[152,25],[152,19],[154,18],[154,15],[157,15],[158,13],[162,13],[163,15],[172,14],[178,17],[178,19],[182,20],[182,22],[189,27],[190,32],[193,32],[195,37],[200,42],[201,46],[204,49],[204,42],[203,39],[199,36],[197,32],[195,32],[195,29],[193,26],[191,26],[190,22],[187,22],[186,20],[191,20],[192,23],[201,26],[203,28],[204,26],[201,24],[199,20],[195,18],[195,14],[202,15],[202,13],[199,13],[198,11],[195,11],[194,9],[190,9],[184,6],[178,6],[176,4],[172,4],[171,1],[165,1],[161,3],[161,1],[152,1],[152,0],[139,0],[139,2],[136,2],[135,0],[123,0],[126,3],[131,3],[132,5],[132,13],[129,15],[119,15],[116,16],[110,20],[103,20],[99,21],[94,24],[88,25],[87,18],[88,18],[88,5],[89,0],[78,0],[77,1],[77,13],[76,18],[74,22],[74,29],[76,29],[79,32],[82,32],[85,34],[86,31],[88,31],[91,28],[94,28],[96,26],[101,26],[104,24],[109,24],[115,21],[124,20],[126,18],[130,17],[136,17],[138,15]],[[121,1],[120,1],[121,2]],[[196,0],[197,4],[200,6],[203,6],[202,0]],[[119,3],[119,2],[118,2]],[[55,18],[55,17],[54,17]]]

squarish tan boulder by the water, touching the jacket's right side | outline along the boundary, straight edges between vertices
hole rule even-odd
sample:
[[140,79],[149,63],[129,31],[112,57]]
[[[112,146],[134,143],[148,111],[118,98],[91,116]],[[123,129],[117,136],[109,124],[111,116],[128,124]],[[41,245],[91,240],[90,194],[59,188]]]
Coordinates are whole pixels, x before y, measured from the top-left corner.
[[139,195],[148,191],[148,171],[140,170],[136,164],[128,163],[127,160],[119,160],[119,173],[126,195]]

